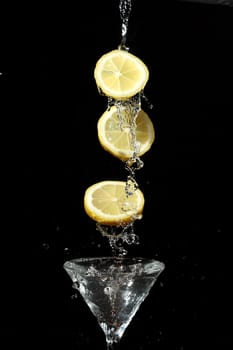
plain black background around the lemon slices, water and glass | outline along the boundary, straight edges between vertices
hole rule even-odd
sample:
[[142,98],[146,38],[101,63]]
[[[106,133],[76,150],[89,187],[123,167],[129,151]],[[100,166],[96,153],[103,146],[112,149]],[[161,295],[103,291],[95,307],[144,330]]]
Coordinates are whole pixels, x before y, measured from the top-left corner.
[[[12,210],[9,222],[17,228],[2,246],[2,348],[12,342],[31,349],[104,348],[102,330],[62,265],[111,254],[84,213],[83,194],[95,182],[126,176],[99,145],[96,123],[107,99],[93,78],[98,58],[120,43],[118,1],[40,3],[27,11],[6,103],[7,116],[13,105],[8,118],[17,134],[11,185],[19,194],[10,208],[20,220]],[[233,343],[232,11],[133,1],[127,44],[150,70],[144,92],[154,107],[144,101],[143,109],[156,141],[137,174],[146,204],[135,223],[140,245],[129,247],[129,255],[155,257],[166,269],[122,338],[122,350],[224,350]],[[1,84],[7,96],[7,74]]]

